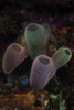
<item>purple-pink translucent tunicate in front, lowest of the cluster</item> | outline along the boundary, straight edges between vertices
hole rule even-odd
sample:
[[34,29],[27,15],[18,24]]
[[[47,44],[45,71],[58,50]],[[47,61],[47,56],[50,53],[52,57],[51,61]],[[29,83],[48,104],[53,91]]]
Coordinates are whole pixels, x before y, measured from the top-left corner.
[[34,89],[43,89],[56,72],[52,58],[46,55],[39,55],[33,64],[30,74],[30,85]]

